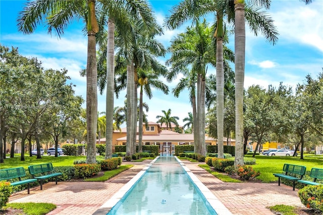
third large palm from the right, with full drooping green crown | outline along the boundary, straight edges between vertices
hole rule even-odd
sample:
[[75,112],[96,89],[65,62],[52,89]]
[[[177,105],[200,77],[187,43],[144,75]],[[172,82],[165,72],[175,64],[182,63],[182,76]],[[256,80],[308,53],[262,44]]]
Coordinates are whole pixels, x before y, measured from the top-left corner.
[[[184,72],[190,80],[197,80],[196,90],[196,112],[193,110],[194,118],[194,145],[196,153],[205,154],[205,81],[207,64],[216,65],[214,58],[214,43],[212,42],[212,31],[207,27],[204,20],[200,23],[195,21],[196,26],[188,27],[185,33],[179,34],[172,40],[171,47],[172,57],[167,64],[172,64],[169,79],[173,79],[179,72]],[[188,76],[187,67],[190,66],[193,73]],[[195,83],[194,83],[195,84]],[[181,84],[181,86],[183,86]],[[191,86],[191,85],[190,85]],[[195,93],[195,92],[194,92]],[[191,94],[194,96],[194,94]],[[194,109],[194,105],[193,105]]]

